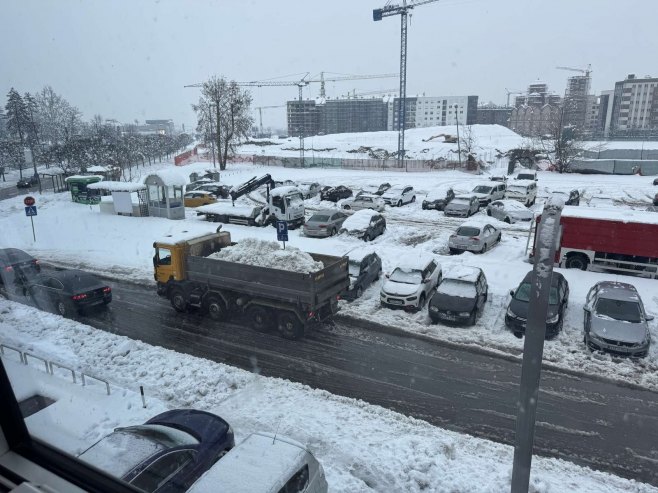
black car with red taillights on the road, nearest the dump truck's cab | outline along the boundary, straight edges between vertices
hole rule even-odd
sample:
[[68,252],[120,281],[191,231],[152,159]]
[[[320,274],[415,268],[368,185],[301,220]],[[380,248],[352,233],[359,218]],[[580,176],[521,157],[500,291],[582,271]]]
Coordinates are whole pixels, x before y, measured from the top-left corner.
[[112,301],[110,286],[96,276],[75,269],[40,274],[28,284],[26,294],[37,308],[63,317]]

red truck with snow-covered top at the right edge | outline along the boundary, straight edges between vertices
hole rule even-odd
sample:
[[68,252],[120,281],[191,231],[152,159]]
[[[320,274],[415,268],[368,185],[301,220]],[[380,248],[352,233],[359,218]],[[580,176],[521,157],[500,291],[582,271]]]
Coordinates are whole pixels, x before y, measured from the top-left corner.
[[560,225],[555,261],[561,267],[658,277],[658,214],[565,206]]

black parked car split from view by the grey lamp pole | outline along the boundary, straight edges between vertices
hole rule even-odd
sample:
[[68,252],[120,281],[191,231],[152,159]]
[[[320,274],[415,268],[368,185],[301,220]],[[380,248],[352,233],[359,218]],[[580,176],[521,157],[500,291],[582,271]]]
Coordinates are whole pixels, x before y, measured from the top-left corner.
[[[528,307],[530,305],[530,290],[533,282],[532,271],[528,272],[519,287],[510,291],[512,299],[505,312],[505,325],[516,337],[523,337],[528,323]],[[546,339],[552,339],[564,324],[564,313],[569,304],[569,283],[562,274],[553,271],[551,290],[548,297],[548,313],[546,315]]]

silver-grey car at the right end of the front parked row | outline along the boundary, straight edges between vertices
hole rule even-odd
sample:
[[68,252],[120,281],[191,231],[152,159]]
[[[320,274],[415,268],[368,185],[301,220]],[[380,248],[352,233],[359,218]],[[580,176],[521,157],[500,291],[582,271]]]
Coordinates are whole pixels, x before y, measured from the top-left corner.
[[594,351],[645,357],[651,345],[647,314],[632,284],[600,281],[585,301],[585,344]]

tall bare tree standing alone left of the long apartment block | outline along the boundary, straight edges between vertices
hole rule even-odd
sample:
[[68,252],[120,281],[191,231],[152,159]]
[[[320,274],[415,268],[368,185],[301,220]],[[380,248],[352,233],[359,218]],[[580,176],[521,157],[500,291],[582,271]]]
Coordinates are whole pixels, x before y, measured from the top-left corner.
[[235,154],[254,123],[250,106],[251,93],[223,77],[212,77],[204,82],[199,103],[192,105],[197,113],[197,130],[203,135],[210,134],[221,170],[226,169],[228,158]]

